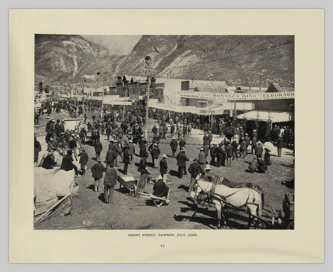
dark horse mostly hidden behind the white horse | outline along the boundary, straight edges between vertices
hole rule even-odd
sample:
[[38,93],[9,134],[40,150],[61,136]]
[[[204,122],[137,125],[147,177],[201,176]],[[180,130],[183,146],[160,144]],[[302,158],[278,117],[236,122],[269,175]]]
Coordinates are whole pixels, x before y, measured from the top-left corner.
[[264,192],[259,185],[256,185],[253,182],[231,182],[230,180],[205,172],[199,177],[201,180],[212,182],[215,184],[222,184],[229,188],[250,188],[259,193],[261,196],[261,203],[264,205]]

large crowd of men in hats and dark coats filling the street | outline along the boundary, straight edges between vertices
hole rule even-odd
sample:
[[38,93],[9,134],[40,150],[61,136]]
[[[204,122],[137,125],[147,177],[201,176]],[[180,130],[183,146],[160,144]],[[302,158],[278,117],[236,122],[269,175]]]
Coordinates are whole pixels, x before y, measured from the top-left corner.
[[[79,177],[78,168],[73,164],[74,160],[79,160],[82,172],[81,176],[85,176],[86,166],[89,161],[85,144],[88,133],[91,133],[90,140],[91,145],[95,149],[96,160],[96,164],[91,168],[92,177],[95,182],[94,191],[101,191],[103,173],[106,171],[103,182],[105,203],[112,203],[113,189],[117,179],[117,171],[114,167],[120,166],[121,159],[121,162],[124,164],[123,173],[127,175],[128,166],[135,160],[133,156],[136,152],[140,156],[138,171],[141,175],[147,174],[147,183],[153,184],[152,172],[147,166],[147,159],[150,153],[153,168],[160,168],[161,174],[156,179],[158,182],[154,183],[153,194],[158,197],[166,197],[168,188],[163,182],[163,178],[168,170],[167,155],[163,154],[161,156],[159,145],[162,139],[167,139],[167,133],[170,133],[171,138],[169,146],[172,156],[169,157],[176,160],[178,177],[181,179],[183,175],[187,175],[187,171],[191,175],[188,191],[191,191],[198,174],[209,171],[210,166],[217,168],[232,167],[232,161],[238,160],[241,157],[245,158],[249,154],[249,147],[251,147],[251,154],[254,153],[256,157],[249,163],[248,171],[264,173],[267,170],[267,166],[271,164],[270,150],[263,149],[255,129],[249,135],[244,131],[242,126],[238,127],[231,121],[224,121],[223,118],[219,119],[217,130],[221,142],[212,144],[213,135],[210,125],[207,122],[201,125],[199,119],[195,118],[196,115],[193,116],[193,122],[190,122],[187,114],[178,115],[174,113],[166,116],[165,112],[150,110],[149,115],[156,118],[158,127],[154,125],[152,131],[149,131],[153,134],[153,137],[152,142],[148,143],[143,135],[143,127],[146,122],[145,108],[141,106],[129,107],[124,112],[124,109],[119,106],[106,105],[103,117],[101,114],[96,116],[93,113],[91,115],[92,121],[88,122],[87,109],[84,106],[73,106],[70,101],[63,100],[53,103],[53,105],[46,103],[43,105],[43,108],[46,108],[48,112],[51,106],[55,112],[60,112],[60,109],[63,109],[72,118],[82,118],[83,121],[79,121],[74,129],[69,130],[65,129],[64,120],[55,120],[53,117],[49,119],[45,126],[45,141],[47,143],[48,155],[44,158],[42,167],[52,169],[57,164],[55,162],[55,152],[58,152],[59,156],[62,156],[60,169],[65,171],[74,169],[75,177]],[[121,122],[120,126],[116,122]],[[185,150],[186,137],[191,137],[192,129],[202,129],[204,136],[202,145],[198,148],[199,153],[197,158],[187,168],[186,162],[189,159],[186,156]],[[277,145],[278,156],[281,157],[282,147],[292,144],[292,130],[289,127],[279,128],[278,126],[274,126],[272,131],[274,134],[273,141],[276,141]],[[104,168],[102,158],[100,157],[103,150],[100,142],[101,135],[106,135],[109,141],[105,158],[106,168]],[[138,145],[137,149],[135,144]],[[35,137],[35,163],[38,161],[38,152],[40,151],[40,143]],[[262,158],[263,154],[264,158]],[[210,156],[210,161],[208,160],[208,156]],[[159,162],[160,157],[162,159]]]

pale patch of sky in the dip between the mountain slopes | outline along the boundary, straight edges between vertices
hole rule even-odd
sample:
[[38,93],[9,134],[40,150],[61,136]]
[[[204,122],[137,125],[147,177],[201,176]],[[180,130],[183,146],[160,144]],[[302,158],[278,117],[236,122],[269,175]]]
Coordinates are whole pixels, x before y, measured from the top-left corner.
[[111,54],[129,54],[141,35],[81,35],[88,41],[100,44],[110,49]]

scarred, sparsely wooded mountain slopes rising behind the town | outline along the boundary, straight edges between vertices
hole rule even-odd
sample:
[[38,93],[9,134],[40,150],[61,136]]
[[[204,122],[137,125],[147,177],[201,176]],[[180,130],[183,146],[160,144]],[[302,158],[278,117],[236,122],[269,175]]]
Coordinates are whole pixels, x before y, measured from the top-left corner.
[[[293,39],[293,36],[143,35],[131,53],[116,56],[79,35],[36,35],[35,78],[80,82],[83,74],[95,74],[98,70],[102,71],[101,80],[111,83],[121,74],[143,75],[143,57],[152,55],[154,44],[163,52],[154,53],[154,74],[159,76],[192,78],[194,75],[195,79],[206,80],[248,77],[251,81],[259,79],[259,72],[264,70],[262,79],[294,80],[294,43],[290,42]],[[279,44],[282,45],[274,47]],[[260,50],[263,48],[266,49]]]

